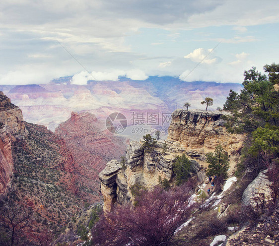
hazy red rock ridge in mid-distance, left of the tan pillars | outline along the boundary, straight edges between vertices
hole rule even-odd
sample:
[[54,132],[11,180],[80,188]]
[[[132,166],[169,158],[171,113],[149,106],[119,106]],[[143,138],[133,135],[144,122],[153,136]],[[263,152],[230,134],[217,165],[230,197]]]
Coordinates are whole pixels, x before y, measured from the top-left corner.
[[125,155],[126,138],[113,135],[104,122],[88,112],[72,112],[70,119],[55,132],[71,150],[74,176],[82,197],[90,202],[100,200],[98,173],[109,160],[120,160]]

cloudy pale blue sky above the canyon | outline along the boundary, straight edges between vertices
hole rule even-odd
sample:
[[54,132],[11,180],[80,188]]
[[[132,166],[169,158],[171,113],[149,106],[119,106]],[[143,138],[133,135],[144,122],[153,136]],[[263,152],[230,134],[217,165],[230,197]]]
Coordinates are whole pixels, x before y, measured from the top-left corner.
[[242,83],[279,63],[278,40],[278,0],[1,0],[0,84]]

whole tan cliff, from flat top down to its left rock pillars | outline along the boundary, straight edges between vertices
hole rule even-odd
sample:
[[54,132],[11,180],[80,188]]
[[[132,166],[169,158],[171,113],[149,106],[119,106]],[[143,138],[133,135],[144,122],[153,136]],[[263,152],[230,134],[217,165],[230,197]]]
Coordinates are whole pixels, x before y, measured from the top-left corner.
[[[113,160],[99,174],[104,210],[111,211],[115,202],[133,201],[132,190],[137,186],[150,188],[166,179],[172,182],[172,165],[176,155],[186,153],[192,162],[191,176],[205,180],[206,153],[221,145],[228,153],[232,173],[239,159],[244,137],[230,134],[224,126],[223,112],[175,110],[168,128],[168,137],[159,141],[151,153],[144,153],[140,142],[132,141],[126,150],[126,166]],[[163,143],[167,152],[163,154]],[[230,174],[229,173],[229,174]]]

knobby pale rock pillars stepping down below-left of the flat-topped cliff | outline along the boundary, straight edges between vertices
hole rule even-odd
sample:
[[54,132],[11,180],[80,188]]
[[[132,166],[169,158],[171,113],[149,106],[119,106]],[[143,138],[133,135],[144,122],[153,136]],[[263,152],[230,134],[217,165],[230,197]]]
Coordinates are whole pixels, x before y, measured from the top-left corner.
[[[181,153],[178,151],[176,154]],[[163,155],[161,148],[145,153],[139,142],[132,141],[126,151],[126,160],[125,168],[113,160],[99,174],[106,212],[111,211],[115,202],[125,204],[133,201],[132,190],[135,188],[149,189],[159,184],[160,180],[172,181],[175,154]],[[204,181],[205,172],[201,165],[195,160],[191,162],[191,176],[197,175],[199,181]]]

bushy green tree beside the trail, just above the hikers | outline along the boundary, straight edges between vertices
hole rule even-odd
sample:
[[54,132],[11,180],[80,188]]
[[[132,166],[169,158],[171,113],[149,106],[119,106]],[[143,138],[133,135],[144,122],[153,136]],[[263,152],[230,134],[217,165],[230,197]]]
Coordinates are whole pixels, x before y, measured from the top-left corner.
[[229,167],[228,155],[222,149],[221,145],[215,148],[214,153],[207,154],[207,162],[209,163],[207,175],[227,178],[227,171]]

